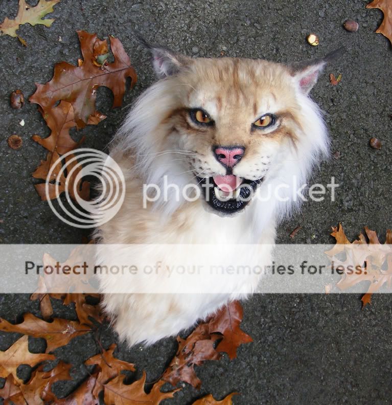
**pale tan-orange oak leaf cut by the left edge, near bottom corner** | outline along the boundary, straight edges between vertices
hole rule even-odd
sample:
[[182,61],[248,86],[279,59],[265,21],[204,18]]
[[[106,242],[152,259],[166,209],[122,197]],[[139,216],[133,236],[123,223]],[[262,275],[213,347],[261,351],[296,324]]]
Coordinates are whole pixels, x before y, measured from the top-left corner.
[[[22,336],[6,351],[0,351],[0,377],[6,378],[8,374],[12,374],[13,377],[19,381],[16,375],[16,369],[21,364],[28,364],[30,367],[35,367],[38,363],[45,360],[54,360],[53,354],[34,354],[29,352],[28,348],[28,335]],[[5,373],[6,372],[6,373]]]

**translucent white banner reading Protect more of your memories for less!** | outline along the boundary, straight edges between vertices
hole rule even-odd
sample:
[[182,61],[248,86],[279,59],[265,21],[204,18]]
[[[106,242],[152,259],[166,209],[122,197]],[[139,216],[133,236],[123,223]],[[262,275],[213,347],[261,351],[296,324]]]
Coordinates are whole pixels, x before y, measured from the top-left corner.
[[392,245],[2,244],[0,292],[391,292]]

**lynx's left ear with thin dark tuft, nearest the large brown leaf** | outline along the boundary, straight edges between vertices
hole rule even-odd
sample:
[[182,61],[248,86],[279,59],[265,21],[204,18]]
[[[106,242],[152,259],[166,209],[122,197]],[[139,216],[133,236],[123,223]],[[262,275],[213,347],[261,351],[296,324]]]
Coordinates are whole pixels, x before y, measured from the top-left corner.
[[177,74],[191,61],[190,58],[176,54],[169,48],[154,46],[138,33],[134,35],[151,52],[152,66],[158,79]]

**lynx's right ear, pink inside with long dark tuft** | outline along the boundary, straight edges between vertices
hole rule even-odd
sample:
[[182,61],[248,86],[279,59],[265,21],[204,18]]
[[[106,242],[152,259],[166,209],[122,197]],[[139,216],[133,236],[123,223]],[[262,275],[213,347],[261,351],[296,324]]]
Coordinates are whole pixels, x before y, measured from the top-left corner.
[[343,53],[344,48],[331,52],[325,58],[294,63],[290,66],[291,75],[298,83],[299,89],[308,94],[316,84],[318,75],[324,69],[326,63],[338,58]]

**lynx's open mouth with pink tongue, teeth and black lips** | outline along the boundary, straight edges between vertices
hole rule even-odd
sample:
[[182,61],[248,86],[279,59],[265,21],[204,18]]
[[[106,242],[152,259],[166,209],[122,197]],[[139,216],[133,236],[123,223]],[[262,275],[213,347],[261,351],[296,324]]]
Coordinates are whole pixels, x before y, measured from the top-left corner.
[[233,174],[197,177],[205,201],[214,210],[230,214],[244,209],[263,178],[248,180]]

